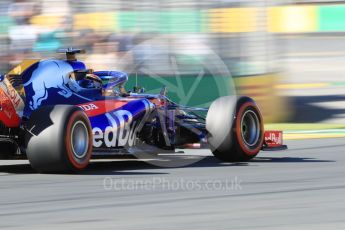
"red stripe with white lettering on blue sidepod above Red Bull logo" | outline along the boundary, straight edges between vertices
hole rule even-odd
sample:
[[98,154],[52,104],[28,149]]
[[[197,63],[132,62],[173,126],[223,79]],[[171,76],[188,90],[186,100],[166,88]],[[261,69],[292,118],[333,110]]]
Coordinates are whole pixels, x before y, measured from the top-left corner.
[[120,108],[128,103],[128,100],[119,101],[119,100],[107,100],[107,101],[93,101],[85,104],[78,105],[81,109],[84,110],[88,117],[95,117],[115,109]]

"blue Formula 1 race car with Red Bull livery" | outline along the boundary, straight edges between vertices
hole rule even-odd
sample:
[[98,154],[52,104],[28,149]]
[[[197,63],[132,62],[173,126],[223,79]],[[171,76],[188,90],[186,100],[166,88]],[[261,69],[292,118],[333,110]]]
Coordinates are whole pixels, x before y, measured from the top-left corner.
[[66,60],[29,61],[0,77],[1,156],[27,158],[38,172],[68,172],[139,145],[174,151],[199,144],[229,162],[285,148],[282,132],[264,132],[249,97],[221,97],[209,109],[181,106],[165,87],[157,95],[127,92],[126,73],[93,71],[76,59],[82,50],[62,52]]

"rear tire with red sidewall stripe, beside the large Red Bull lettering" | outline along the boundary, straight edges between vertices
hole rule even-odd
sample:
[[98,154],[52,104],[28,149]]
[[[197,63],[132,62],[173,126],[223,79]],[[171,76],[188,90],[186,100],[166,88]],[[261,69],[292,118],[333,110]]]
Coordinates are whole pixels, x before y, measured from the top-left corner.
[[80,171],[89,164],[92,154],[90,121],[75,106],[39,108],[30,117],[25,143],[27,157],[36,171]]

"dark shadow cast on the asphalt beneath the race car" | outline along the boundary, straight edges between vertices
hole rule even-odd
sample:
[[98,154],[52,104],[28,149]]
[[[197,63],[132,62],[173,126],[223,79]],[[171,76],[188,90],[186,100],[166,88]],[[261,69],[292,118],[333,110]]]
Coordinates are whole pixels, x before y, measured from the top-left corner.
[[[238,166],[255,166],[259,165],[254,163],[326,163],[335,162],[332,160],[319,160],[316,158],[305,157],[256,157],[250,162],[237,162],[229,163],[222,162],[213,156],[207,156],[202,158],[198,162],[184,166],[184,168],[205,168],[205,167],[238,167]],[[1,164],[1,162],[0,162]],[[168,172],[158,171],[158,169],[169,169],[173,167],[160,167],[155,164],[151,164],[144,160],[137,160],[134,157],[116,157],[115,159],[108,159],[107,161],[92,161],[90,165],[78,173],[79,175],[155,175],[155,174],[169,174]],[[175,167],[179,168],[179,167]],[[138,170],[138,171],[136,171]],[[139,170],[152,170],[146,172],[140,172]],[[33,174],[35,170],[31,168],[29,163],[27,164],[12,164],[12,165],[0,165],[0,173],[10,174]]]

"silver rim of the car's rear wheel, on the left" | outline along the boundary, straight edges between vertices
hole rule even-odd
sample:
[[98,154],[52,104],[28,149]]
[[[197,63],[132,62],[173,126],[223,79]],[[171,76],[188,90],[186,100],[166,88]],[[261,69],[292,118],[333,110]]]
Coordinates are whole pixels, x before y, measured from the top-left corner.
[[71,144],[73,155],[82,159],[86,156],[88,152],[88,141],[89,141],[89,132],[86,125],[82,121],[77,121],[71,132]]

